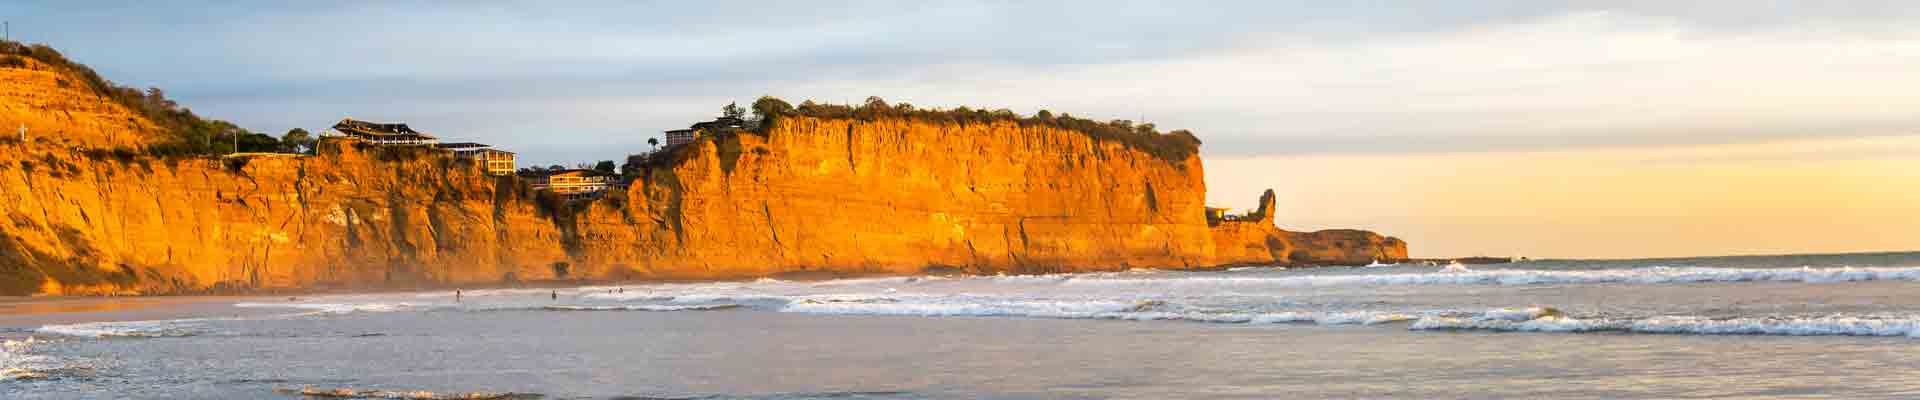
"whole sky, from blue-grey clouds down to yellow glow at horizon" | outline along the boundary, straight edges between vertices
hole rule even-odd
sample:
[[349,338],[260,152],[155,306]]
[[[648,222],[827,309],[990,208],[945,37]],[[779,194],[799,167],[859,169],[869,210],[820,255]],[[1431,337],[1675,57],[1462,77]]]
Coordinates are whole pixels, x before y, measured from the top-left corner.
[[1190,129],[1210,202],[1413,256],[1920,250],[1920,2],[6,2],[252,131],[620,160],[762,94]]

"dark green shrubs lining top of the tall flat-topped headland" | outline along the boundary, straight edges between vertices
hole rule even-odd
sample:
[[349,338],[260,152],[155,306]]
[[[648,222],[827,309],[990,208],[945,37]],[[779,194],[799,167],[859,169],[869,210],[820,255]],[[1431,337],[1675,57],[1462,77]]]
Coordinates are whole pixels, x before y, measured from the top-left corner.
[[785,100],[774,96],[760,96],[760,100],[753,102],[753,121],[758,121],[756,127],[762,133],[766,127],[770,127],[772,123],[780,123],[780,119],[787,115],[858,119],[858,121],[899,117],[899,119],[920,119],[920,121],[962,123],[962,125],[1012,121],[1020,125],[1044,125],[1044,127],[1068,129],[1083,133],[1094,140],[1121,142],[1131,148],[1142,150],[1146,154],[1154,154],[1154,158],[1167,160],[1173,163],[1185,162],[1187,158],[1200,152],[1200,138],[1188,133],[1187,129],[1160,133],[1160,129],[1154,127],[1152,123],[1135,123],[1129,119],[1114,119],[1102,123],[1102,121],[1073,117],[1069,113],[1054,115],[1048,110],[1041,110],[1033,115],[1020,115],[1006,108],[993,112],[983,108],[981,110],[966,108],[966,106],[950,110],[914,108],[914,104],[904,104],[904,102],[887,104],[887,100],[881,100],[877,96],[866,98],[866,104],[860,106],[816,104],[812,100],[801,102],[801,106],[791,106]]

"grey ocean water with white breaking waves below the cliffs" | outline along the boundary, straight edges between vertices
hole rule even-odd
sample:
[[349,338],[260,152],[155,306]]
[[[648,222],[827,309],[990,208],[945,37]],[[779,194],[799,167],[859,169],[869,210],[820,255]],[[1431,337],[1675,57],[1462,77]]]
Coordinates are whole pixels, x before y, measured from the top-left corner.
[[0,329],[0,398],[1920,398],[1920,252],[382,292]]

